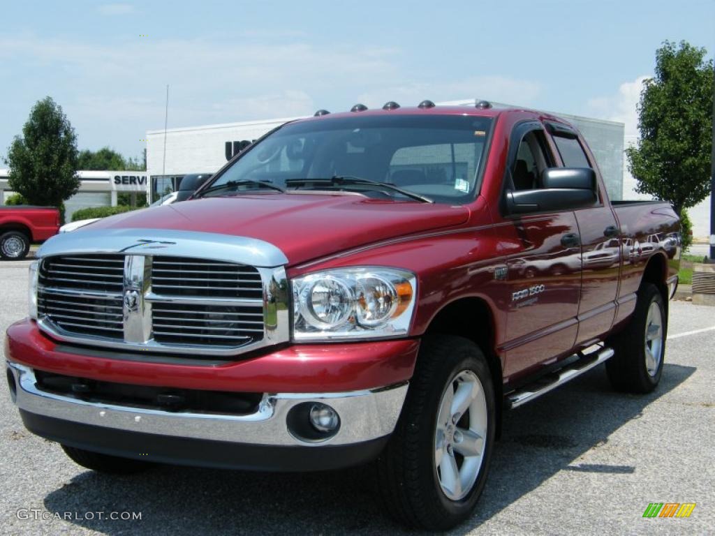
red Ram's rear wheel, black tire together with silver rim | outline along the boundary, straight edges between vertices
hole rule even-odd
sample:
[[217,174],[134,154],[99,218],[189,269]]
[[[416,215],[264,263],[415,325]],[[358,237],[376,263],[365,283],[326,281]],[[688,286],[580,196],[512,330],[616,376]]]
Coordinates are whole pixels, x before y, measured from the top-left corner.
[[666,316],[663,296],[654,284],[638,289],[638,301],[628,326],[611,338],[616,352],[606,361],[606,373],[618,391],[648,393],[661,381],[666,352]]

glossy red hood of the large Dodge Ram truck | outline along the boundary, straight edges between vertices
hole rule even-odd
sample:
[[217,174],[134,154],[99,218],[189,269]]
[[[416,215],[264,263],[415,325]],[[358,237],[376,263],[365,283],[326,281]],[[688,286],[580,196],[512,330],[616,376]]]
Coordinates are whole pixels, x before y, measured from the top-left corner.
[[294,265],[380,240],[453,227],[468,217],[465,207],[360,194],[243,194],[126,212],[89,227],[94,232],[171,229],[250,237],[280,248]]

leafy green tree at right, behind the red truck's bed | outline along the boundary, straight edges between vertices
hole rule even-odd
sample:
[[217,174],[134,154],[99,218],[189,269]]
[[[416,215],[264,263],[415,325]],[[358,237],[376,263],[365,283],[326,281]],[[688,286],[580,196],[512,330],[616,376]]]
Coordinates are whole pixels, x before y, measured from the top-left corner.
[[626,149],[638,192],[671,202],[678,214],[710,192],[713,62],[706,54],[664,41],[638,104],[641,140]]

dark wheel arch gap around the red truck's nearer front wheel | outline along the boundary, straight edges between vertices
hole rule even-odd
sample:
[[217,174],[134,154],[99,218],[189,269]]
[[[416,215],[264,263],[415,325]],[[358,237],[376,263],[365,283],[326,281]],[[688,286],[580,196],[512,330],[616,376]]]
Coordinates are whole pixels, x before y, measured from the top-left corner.
[[[475,329],[483,326],[483,329]],[[441,307],[430,320],[425,335],[450,334],[464,337],[484,352],[492,377],[496,408],[496,438],[501,435],[503,407],[502,363],[495,351],[496,323],[489,303],[480,297],[462,297]]]

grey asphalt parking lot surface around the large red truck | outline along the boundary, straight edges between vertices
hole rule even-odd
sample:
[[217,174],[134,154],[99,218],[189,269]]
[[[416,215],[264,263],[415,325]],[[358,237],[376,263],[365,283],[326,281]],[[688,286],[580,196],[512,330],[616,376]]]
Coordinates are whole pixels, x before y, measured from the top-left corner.
[[[25,314],[28,264],[0,262],[3,336]],[[598,367],[507,413],[478,511],[453,533],[712,534],[715,308],[671,302],[669,334],[663,379],[652,394],[613,392]],[[364,468],[280,475],[157,467],[131,477],[97,475],[24,430],[5,382],[0,453],[2,534],[405,532],[383,515]],[[686,519],[644,519],[650,502],[696,507]],[[66,512],[71,520],[34,519]],[[100,520],[87,512],[141,512],[142,519]]]

